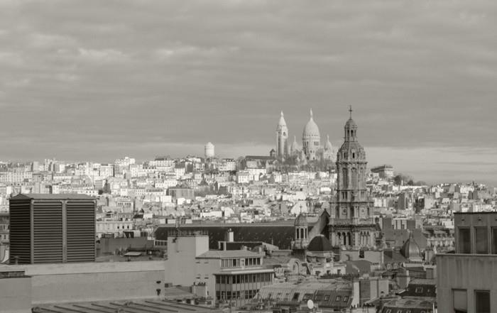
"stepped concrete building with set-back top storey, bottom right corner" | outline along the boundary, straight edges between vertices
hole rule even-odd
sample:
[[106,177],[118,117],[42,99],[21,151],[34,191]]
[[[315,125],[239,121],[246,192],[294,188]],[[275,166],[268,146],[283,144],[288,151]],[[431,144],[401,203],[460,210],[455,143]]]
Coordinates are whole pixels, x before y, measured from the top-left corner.
[[495,312],[497,212],[455,213],[454,226],[456,253],[436,256],[439,312]]

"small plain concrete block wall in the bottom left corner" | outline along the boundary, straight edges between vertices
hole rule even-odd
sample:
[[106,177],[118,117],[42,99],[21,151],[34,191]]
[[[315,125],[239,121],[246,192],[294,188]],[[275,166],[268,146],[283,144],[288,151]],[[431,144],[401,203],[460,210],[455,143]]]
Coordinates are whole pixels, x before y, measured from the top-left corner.
[[31,277],[0,279],[0,312],[31,312]]

